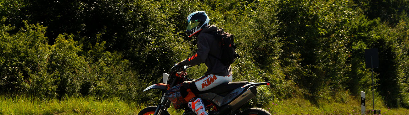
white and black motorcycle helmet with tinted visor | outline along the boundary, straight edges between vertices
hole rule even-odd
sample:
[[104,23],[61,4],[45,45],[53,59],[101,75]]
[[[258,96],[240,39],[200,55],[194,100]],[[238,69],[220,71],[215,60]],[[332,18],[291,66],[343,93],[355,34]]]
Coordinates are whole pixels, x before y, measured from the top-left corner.
[[209,25],[209,17],[205,11],[195,11],[187,16],[186,33],[191,37],[201,31],[203,27]]

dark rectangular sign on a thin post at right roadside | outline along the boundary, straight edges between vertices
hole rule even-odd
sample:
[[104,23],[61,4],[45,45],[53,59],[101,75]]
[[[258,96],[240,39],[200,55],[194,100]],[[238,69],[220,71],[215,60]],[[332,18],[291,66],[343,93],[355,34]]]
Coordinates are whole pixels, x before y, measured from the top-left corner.
[[372,108],[374,113],[380,113],[380,110],[375,110],[375,98],[373,97],[373,68],[379,67],[378,49],[365,49],[365,68],[371,69],[372,74]]

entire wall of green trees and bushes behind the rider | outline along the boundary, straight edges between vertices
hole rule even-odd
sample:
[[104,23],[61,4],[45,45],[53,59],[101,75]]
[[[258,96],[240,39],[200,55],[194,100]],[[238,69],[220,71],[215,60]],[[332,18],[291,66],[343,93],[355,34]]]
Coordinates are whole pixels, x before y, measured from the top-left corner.
[[[235,35],[234,81],[266,82],[247,106],[288,98],[348,102],[371,91],[364,49],[378,48],[375,97],[409,108],[407,0],[97,0],[0,2],[0,89],[39,97],[119,97],[153,104],[142,89],[196,52],[186,16]],[[204,64],[189,69],[198,78]],[[341,92],[341,93],[340,93]],[[146,102],[146,100],[152,100]]]

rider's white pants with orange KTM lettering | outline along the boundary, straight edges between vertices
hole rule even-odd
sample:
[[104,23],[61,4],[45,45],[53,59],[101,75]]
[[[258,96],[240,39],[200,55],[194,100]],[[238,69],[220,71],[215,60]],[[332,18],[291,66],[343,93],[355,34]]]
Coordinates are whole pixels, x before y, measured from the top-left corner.
[[206,91],[222,83],[231,82],[233,75],[219,76],[219,75],[207,75],[202,76],[195,81],[196,88],[199,91]]

